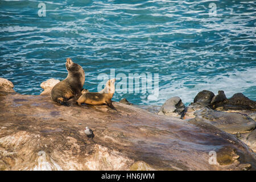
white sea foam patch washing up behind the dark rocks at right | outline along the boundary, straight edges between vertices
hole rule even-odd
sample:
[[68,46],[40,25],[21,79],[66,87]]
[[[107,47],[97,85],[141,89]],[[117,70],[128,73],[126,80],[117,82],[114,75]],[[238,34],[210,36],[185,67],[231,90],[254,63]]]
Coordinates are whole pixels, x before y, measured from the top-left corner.
[[[164,88],[159,91],[159,102],[163,104],[170,97],[179,96],[184,103],[193,102],[196,94],[201,90],[210,90],[214,94],[218,93],[218,90],[224,90],[226,97],[232,97],[233,94],[244,92],[251,86],[256,86],[256,67],[246,69],[246,71],[235,71],[225,75],[216,75],[214,77],[200,77],[201,83],[196,84],[193,88],[188,88],[184,85],[184,82],[195,81],[195,78],[187,77],[184,80],[175,80],[170,82],[169,85],[165,85]],[[249,97],[250,98],[250,97]]]

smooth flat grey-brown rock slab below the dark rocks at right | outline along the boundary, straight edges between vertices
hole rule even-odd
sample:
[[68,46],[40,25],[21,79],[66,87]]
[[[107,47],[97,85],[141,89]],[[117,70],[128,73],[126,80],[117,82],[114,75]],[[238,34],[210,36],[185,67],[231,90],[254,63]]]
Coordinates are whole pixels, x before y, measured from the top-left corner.
[[202,119],[204,122],[210,123],[230,134],[236,134],[238,132],[245,133],[254,130],[256,127],[256,122],[253,119],[241,113],[199,110],[196,111],[194,115],[196,115],[198,119]]

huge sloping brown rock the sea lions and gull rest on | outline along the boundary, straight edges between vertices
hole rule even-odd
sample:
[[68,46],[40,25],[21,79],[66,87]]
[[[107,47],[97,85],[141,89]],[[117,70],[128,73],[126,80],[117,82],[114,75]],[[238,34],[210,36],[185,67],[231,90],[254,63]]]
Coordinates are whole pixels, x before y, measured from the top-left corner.
[[[113,102],[117,112],[105,105],[60,106],[46,95],[14,93],[0,101],[2,170],[256,169],[243,142],[206,122],[119,102]],[[85,126],[95,129],[93,140]],[[218,163],[209,163],[210,151]]]

